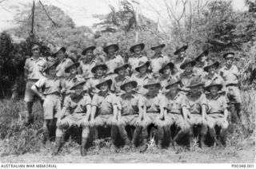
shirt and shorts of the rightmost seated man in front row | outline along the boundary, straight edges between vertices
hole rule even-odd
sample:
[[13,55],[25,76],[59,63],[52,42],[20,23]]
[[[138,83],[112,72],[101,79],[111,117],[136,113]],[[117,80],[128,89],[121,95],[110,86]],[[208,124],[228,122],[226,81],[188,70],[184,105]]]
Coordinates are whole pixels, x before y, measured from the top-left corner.
[[207,125],[209,128],[214,128],[218,125],[222,128],[228,127],[228,121],[224,119],[224,110],[227,108],[225,96],[218,95],[213,98],[210,95],[206,96],[207,99]]

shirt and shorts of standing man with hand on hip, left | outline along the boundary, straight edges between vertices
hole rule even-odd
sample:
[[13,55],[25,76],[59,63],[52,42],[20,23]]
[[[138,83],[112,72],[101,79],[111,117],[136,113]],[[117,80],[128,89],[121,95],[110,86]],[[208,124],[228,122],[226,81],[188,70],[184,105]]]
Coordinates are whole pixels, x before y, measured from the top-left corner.
[[58,77],[49,79],[42,77],[34,84],[37,88],[44,88],[43,94],[46,96],[42,107],[45,120],[58,118],[58,113],[61,112],[61,81]]

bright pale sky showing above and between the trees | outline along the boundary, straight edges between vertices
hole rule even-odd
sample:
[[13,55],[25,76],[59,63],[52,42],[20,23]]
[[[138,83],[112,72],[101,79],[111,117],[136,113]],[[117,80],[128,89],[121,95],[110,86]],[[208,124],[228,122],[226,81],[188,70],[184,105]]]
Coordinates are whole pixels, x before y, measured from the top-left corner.
[[[131,2],[133,0],[129,0]],[[155,22],[159,20],[160,25],[164,26],[170,21],[165,6],[165,0],[136,0],[139,2],[139,11],[146,17],[153,19]],[[181,3],[181,0],[177,0]],[[196,2],[198,0],[190,0]],[[199,0],[202,3],[206,0]],[[17,22],[14,15],[24,8],[24,5],[31,6],[33,0],[0,0],[0,31],[15,26]],[[38,0],[35,0],[38,2]],[[92,26],[99,22],[93,14],[108,14],[110,12],[109,4],[118,9],[118,0],[41,0],[43,4],[54,5],[61,8],[66,14],[74,20],[76,26]],[[175,6],[174,0],[166,0],[167,3]],[[233,0],[234,10],[247,10],[244,0]],[[181,13],[181,4],[175,7],[175,14]],[[157,13],[156,10],[159,12]]]

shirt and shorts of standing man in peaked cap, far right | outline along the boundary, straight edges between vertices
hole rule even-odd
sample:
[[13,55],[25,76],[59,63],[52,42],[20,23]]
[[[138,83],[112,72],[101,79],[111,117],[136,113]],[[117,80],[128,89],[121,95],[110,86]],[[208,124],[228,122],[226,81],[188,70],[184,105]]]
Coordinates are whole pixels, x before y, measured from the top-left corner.
[[226,85],[226,96],[229,102],[242,103],[242,96],[240,89],[238,88],[238,76],[239,71],[237,66],[232,65],[230,69],[224,66],[219,70],[219,74],[223,77]]

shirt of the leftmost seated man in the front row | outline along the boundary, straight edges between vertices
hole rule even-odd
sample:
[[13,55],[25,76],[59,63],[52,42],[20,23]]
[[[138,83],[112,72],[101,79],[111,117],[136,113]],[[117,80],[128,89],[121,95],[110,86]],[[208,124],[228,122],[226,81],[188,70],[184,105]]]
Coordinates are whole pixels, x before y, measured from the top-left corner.
[[63,102],[62,112],[65,116],[73,113],[86,113],[86,106],[91,104],[91,98],[88,94],[82,96],[81,100],[74,102],[70,96],[66,96]]

